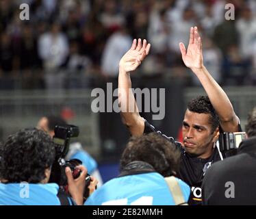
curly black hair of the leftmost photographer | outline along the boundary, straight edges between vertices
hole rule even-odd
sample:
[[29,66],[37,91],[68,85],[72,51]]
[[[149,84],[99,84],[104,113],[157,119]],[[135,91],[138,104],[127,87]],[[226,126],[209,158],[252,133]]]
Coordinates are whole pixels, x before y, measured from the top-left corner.
[[55,159],[55,147],[44,131],[22,129],[1,147],[0,178],[8,183],[40,183]]

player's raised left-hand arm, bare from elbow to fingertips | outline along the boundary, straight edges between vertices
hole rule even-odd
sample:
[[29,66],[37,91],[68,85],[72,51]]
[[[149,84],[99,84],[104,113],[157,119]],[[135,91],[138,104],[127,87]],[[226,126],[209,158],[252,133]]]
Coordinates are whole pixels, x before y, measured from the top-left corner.
[[144,57],[149,54],[151,44],[146,40],[133,40],[131,49],[125,53],[119,62],[118,103],[121,109],[123,123],[128,127],[132,136],[140,136],[144,131],[144,120],[140,117],[136,100],[131,91],[130,73],[136,70]]

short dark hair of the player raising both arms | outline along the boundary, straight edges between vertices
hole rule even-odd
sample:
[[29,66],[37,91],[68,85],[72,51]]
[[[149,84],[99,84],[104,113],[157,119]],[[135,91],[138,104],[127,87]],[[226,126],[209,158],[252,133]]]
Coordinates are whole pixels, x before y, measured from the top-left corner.
[[209,123],[212,125],[212,133],[220,125],[220,120],[216,110],[209,100],[208,96],[198,96],[195,99],[192,99],[188,103],[188,110],[191,112],[196,112],[198,114],[209,114]]

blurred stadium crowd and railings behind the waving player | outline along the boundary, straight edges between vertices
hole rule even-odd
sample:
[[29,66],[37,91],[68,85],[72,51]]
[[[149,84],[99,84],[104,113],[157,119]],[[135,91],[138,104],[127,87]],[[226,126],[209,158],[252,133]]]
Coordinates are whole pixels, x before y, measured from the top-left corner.
[[[21,3],[29,21],[20,19]],[[235,5],[234,21],[225,20],[227,3]],[[80,127],[79,141],[103,179],[116,175],[129,133],[119,114],[92,112],[92,89],[117,88],[120,57],[133,38],[147,39],[151,52],[132,75],[133,88],[166,88],[165,118],[142,116],[178,138],[186,103],[205,94],[179,51],[195,25],[205,66],[243,127],[256,105],[255,18],[255,0],[1,0],[0,140],[44,115],[62,116]]]

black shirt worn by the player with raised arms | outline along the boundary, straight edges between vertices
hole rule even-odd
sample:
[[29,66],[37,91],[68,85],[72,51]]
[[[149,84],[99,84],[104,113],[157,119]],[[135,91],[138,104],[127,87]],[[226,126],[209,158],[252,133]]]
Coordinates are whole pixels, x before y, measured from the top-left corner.
[[175,143],[177,148],[181,151],[181,165],[177,177],[190,185],[191,194],[189,205],[201,205],[202,204],[202,190],[201,185],[203,183],[203,177],[206,170],[214,163],[220,161],[220,151],[217,147],[214,149],[212,156],[207,159],[201,159],[198,157],[192,157],[185,152],[180,142],[175,142],[174,138],[167,137],[162,134],[161,131],[156,131],[153,125],[149,124],[145,120],[144,133],[156,132],[162,135],[164,138],[172,143]]

